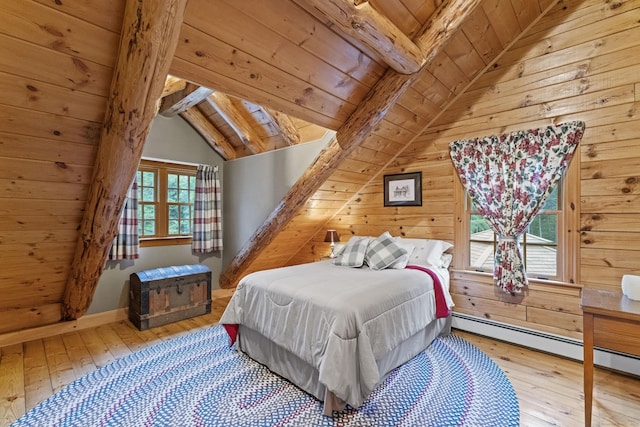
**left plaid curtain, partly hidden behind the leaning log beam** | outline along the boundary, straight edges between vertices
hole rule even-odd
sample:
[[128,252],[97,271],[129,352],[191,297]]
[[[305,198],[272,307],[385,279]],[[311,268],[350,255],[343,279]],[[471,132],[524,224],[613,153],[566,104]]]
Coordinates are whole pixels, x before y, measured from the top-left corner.
[[138,249],[140,239],[138,238],[138,182],[136,176],[127,192],[120,222],[118,223],[118,234],[111,245],[109,259],[138,259]]

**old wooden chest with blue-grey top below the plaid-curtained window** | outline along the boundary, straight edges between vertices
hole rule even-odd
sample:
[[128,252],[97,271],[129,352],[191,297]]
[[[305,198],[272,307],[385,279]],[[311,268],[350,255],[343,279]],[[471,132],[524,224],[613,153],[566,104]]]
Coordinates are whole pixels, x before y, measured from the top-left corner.
[[211,270],[204,265],[155,268],[129,276],[129,320],[145,330],[211,313]]

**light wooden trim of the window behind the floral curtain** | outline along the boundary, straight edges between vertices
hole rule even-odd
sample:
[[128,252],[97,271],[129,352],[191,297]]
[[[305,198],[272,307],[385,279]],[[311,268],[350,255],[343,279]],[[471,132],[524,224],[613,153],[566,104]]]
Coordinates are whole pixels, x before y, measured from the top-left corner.
[[[579,154],[579,153],[577,153]],[[580,159],[579,155],[574,155],[565,172],[560,189],[560,202],[562,210],[558,215],[558,265],[557,275],[554,279],[542,279],[536,276],[528,276],[530,282],[535,283],[579,283],[579,256],[580,256],[580,234],[578,232],[580,224],[580,212],[578,207],[580,195]],[[474,270],[467,266],[468,247],[469,247],[469,226],[466,207],[466,192],[460,182],[460,178],[453,170],[454,179],[454,209],[455,209],[455,225],[454,225],[454,244],[455,250],[453,258],[454,270],[464,271],[474,274],[492,274]]]

